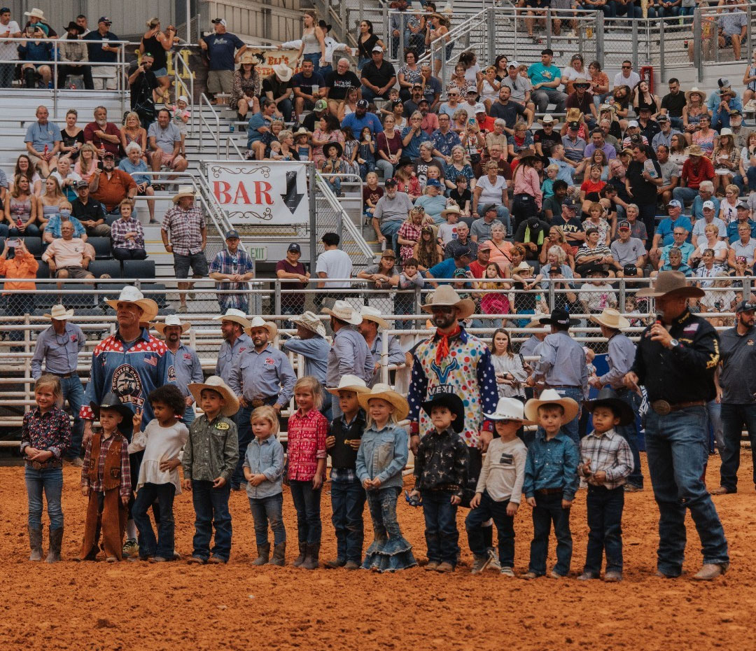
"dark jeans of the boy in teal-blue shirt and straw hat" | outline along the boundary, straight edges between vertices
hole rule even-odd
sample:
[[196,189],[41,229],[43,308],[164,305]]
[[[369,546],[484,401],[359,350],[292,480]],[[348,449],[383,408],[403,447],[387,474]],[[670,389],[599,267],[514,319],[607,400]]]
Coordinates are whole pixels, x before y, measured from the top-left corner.
[[562,576],[569,573],[572,560],[572,533],[569,530],[569,509],[562,509],[562,493],[548,495],[536,493],[533,509],[533,541],[530,544],[528,571],[539,576],[546,574],[546,556],[549,551],[551,523],[556,536],[556,565],[554,572]]

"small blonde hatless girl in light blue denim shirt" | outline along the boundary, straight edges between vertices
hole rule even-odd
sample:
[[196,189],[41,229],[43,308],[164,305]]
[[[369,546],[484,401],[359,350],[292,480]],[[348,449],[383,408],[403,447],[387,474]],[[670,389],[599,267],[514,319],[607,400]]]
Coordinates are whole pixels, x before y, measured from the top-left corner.
[[[246,496],[255,524],[257,558],[253,565],[283,566],[286,563],[286,529],[283,528],[283,446],[276,439],[278,416],[263,405],[249,416],[255,439],[246,448],[244,479]],[[271,544],[268,522],[273,530],[273,559],[268,563]]]

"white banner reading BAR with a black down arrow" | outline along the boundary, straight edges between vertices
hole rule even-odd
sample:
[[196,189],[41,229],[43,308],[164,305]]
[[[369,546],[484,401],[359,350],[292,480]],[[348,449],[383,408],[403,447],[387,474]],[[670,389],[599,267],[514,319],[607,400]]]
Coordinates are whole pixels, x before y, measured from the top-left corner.
[[207,163],[210,190],[235,226],[306,224],[310,219],[305,163]]

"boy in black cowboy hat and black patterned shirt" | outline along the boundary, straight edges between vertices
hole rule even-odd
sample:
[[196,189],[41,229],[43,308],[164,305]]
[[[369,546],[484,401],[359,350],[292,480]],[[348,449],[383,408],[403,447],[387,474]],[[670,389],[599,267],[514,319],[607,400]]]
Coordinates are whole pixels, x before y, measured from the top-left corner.
[[423,498],[428,564],[426,570],[454,572],[457,566],[457,506],[467,480],[467,447],[460,439],[465,407],[453,393],[437,392],[423,402],[434,429],[415,454],[415,488],[410,498]]

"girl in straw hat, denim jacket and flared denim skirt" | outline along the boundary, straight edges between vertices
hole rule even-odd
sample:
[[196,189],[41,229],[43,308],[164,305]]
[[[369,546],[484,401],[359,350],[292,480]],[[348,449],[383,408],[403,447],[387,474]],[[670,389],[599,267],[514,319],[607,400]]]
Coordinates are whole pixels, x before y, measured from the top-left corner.
[[417,565],[412,545],[401,535],[396,519],[401,471],[409,456],[407,431],[397,423],[407,417],[410,407],[388,384],[378,383],[358,399],[367,412],[367,429],[362,435],[355,467],[367,491],[373,519],[373,543],[362,566],[376,572],[395,572]]

